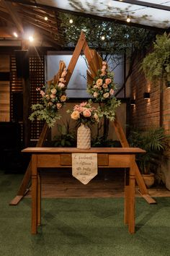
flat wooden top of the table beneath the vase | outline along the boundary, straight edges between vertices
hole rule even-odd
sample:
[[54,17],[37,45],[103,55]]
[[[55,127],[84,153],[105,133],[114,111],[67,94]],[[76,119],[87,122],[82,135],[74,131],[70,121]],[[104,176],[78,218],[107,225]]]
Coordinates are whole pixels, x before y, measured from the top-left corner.
[[145,153],[141,148],[24,148],[24,153],[115,153],[115,154],[136,154]]

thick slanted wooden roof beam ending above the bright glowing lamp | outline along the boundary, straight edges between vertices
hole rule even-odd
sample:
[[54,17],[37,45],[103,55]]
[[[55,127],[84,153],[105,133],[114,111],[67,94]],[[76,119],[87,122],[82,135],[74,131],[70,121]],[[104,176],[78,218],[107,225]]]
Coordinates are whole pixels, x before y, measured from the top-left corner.
[[9,3],[8,1],[1,0],[2,4],[4,4],[4,7],[8,10],[9,14],[12,17],[12,20],[14,21],[15,25],[17,26],[20,33],[24,33],[24,28],[22,27],[22,22],[19,19],[19,15],[17,14],[17,11],[13,4]]

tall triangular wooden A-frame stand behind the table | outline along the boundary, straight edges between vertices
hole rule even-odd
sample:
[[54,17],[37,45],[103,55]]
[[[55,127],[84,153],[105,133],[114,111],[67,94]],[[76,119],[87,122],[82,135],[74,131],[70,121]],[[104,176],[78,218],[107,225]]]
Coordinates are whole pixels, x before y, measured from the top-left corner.
[[[66,85],[68,84],[71,78],[71,74],[73,73],[73,69],[76,66],[76,62],[79,59],[79,55],[81,54],[81,51],[84,52],[84,55],[86,56],[86,59],[88,62],[93,61],[94,50],[89,49],[89,46],[86,43],[86,38],[83,32],[81,32],[76,48],[73,51],[73,56],[71,58],[70,64],[68,65],[67,74],[66,74]],[[58,74],[60,72],[61,70],[58,71]],[[58,77],[58,74],[57,74],[57,77]],[[113,127],[115,127],[115,132],[117,134],[118,139],[120,140],[122,148],[129,148],[128,140],[126,139],[125,133],[123,132],[123,129],[119,121],[117,120],[117,116],[115,116],[115,121],[113,121],[112,124],[113,124]],[[45,142],[45,139],[48,135],[48,129],[49,128],[47,124],[44,124],[40,138],[37,141],[37,145],[36,145],[37,148],[42,147],[43,142]],[[137,164],[135,165],[135,175],[136,175],[136,182],[139,187],[140,195],[142,195],[148,203],[150,204],[156,203],[156,201],[153,200],[153,198],[148,194],[148,191],[146,189],[146,184],[143,182],[143,177],[140,174]],[[22,200],[22,197],[24,197],[24,195],[29,191],[28,184],[30,182],[30,178],[31,178],[31,162],[29,163],[27,167],[27,171],[24,174],[24,178],[22,179],[22,183],[17,192],[17,196],[14,197],[14,199],[9,203],[9,205],[17,205],[19,201]]]

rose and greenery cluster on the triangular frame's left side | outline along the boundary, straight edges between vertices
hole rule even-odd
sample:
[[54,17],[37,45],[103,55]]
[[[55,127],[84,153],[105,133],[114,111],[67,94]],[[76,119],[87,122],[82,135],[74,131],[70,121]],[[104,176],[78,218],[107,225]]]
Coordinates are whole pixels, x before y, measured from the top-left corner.
[[61,119],[61,115],[58,110],[66,102],[66,68],[63,69],[61,77],[58,83],[54,80],[50,81],[50,85],[44,85],[42,89],[37,88],[37,91],[42,96],[42,103],[37,103],[32,105],[32,114],[29,119],[31,121],[45,120],[48,127],[53,127],[57,119]]

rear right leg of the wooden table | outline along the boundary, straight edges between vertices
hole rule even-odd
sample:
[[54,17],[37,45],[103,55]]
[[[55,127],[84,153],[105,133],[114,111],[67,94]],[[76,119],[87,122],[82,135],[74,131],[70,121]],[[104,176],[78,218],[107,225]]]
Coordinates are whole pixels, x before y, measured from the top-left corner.
[[125,208],[124,223],[129,224],[129,205],[130,205],[130,187],[129,187],[129,170],[125,169]]

